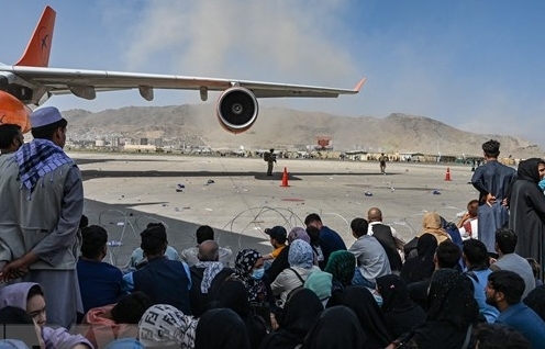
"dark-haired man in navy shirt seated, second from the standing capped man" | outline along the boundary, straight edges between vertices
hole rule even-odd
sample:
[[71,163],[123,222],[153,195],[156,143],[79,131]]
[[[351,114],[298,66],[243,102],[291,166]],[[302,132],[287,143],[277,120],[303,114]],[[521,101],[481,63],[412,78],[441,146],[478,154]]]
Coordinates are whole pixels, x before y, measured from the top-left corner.
[[185,262],[165,257],[168,245],[165,226],[149,226],[140,236],[147,264],[123,275],[123,291],[142,291],[151,296],[155,304],[170,304],[183,314],[191,314],[189,267]]

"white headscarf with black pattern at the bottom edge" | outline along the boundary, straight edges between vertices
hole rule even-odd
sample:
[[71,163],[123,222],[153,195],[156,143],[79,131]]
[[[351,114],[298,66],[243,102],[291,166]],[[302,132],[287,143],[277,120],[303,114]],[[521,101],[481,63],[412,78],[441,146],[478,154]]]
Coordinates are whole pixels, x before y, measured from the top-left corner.
[[138,323],[140,341],[144,347],[181,346],[194,348],[194,330],[198,320],[183,315],[168,304],[149,307]]

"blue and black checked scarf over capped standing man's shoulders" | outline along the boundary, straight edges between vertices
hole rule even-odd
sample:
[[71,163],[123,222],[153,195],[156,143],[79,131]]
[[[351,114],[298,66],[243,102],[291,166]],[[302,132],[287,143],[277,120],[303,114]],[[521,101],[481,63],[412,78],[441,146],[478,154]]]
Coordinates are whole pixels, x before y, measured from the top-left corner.
[[31,193],[45,174],[65,164],[74,164],[63,148],[48,139],[40,138],[23,144],[15,153],[15,161],[19,165],[22,185]]

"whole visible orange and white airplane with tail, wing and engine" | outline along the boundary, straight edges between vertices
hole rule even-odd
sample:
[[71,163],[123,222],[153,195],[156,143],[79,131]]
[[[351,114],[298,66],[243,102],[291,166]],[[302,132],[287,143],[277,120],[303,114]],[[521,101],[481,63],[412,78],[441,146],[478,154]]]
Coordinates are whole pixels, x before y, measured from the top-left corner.
[[[354,89],[335,89],[237,79],[52,68],[48,64],[55,18],[56,12],[45,7],[21,59],[12,66],[0,65],[0,103],[15,105],[10,114],[13,122],[24,130],[30,125],[30,108],[38,106],[55,94],[71,93],[92,100],[101,91],[137,89],[142,98],[151,101],[155,89],[178,89],[198,90],[202,101],[208,100],[209,91],[221,91],[216,102],[218,120],[223,128],[236,134],[247,131],[256,121],[258,98],[334,98],[355,94],[365,83],[364,78]],[[3,123],[8,122],[8,116],[2,115]]]

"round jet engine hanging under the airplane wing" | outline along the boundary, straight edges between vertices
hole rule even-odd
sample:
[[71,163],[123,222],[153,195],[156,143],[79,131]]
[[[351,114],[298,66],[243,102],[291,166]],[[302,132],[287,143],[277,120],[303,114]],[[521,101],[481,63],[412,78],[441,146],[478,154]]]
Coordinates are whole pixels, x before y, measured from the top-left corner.
[[226,131],[237,134],[255,123],[259,105],[251,90],[242,87],[226,89],[218,99],[218,121]]

